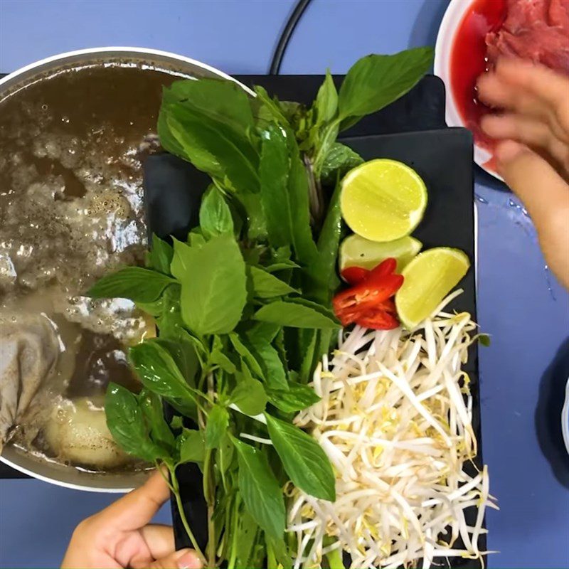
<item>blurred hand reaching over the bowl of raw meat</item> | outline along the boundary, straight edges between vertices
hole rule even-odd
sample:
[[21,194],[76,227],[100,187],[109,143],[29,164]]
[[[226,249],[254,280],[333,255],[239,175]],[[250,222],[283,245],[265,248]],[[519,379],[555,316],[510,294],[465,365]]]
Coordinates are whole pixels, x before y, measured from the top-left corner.
[[551,270],[569,287],[569,77],[502,59],[479,79],[479,97],[500,115],[482,119],[499,140],[496,163],[521,198]]

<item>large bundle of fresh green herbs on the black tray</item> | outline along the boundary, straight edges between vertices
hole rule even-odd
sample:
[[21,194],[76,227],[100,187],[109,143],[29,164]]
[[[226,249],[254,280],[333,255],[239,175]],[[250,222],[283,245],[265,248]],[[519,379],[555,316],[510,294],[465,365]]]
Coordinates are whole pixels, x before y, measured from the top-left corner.
[[[430,48],[368,55],[339,91],[328,73],[309,108],[231,81],[164,90],[162,146],[211,176],[199,226],[173,245],[154,235],[147,267],[88,294],[132,299],[156,319],[159,337],[129,352],[143,389],[110,385],[107,424],[125,451],[169,469],[208,567],[291,565],[287,485],[335,499],[326,454],[293,419],[319,400],[307,383],[339,329],[337,181],[362,160],[336,137],[408,92],[431,60]],[[203,472],[206,551],[181,504],[176,468],[187,462]]]

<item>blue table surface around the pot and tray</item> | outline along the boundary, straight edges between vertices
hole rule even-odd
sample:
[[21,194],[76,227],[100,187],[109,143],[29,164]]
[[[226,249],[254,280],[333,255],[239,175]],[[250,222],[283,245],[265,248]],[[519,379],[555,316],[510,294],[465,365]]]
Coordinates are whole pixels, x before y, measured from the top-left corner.
[[[0,72],[67,50],[143,46],[228,73],[266,73],[292,0],[0,0]],[[447,0],[314,0],[282,73],[344,73],[361,55],[434,45]],[[531,220],[477,172],[484,460],[501,511],[487,523],[491,568],[569,567],[569,484],[538,440],[536,408],[568,353],[569,297],[546,270]],[[566,377],[566,376],[565,376]],[[560,395],[559,395],[560,396]],[[546,413],[546,411],[545,411]],[[539,417],[539,413],[538,413]],[[543,449],[543,450],[542,450]],[[555,461],[553,461],[555,462]],[[0,567],[58,567],[78,521],[108,494],[0,481]],[[169,521],[164,508],[159,521]]]

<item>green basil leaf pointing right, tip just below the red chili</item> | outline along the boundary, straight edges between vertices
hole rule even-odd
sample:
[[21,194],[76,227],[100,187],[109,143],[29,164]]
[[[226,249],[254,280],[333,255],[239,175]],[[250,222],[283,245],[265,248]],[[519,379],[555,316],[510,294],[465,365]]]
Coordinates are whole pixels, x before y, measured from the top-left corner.
[[299,300],[277,300],[265,304],[255,312],[253,319],[292,328],[339,328],[334,315],[324,307],[321,307],[321,310],[315,309]]

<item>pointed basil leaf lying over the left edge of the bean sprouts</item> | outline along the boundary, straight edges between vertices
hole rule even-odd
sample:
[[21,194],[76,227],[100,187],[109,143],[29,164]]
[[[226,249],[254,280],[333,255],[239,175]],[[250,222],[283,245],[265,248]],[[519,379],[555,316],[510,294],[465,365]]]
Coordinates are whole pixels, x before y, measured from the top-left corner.
[[334,501],[334,471],[318,442],[298,427],[268,413],[265,419],[272,444],[294,485],[315,498]]

